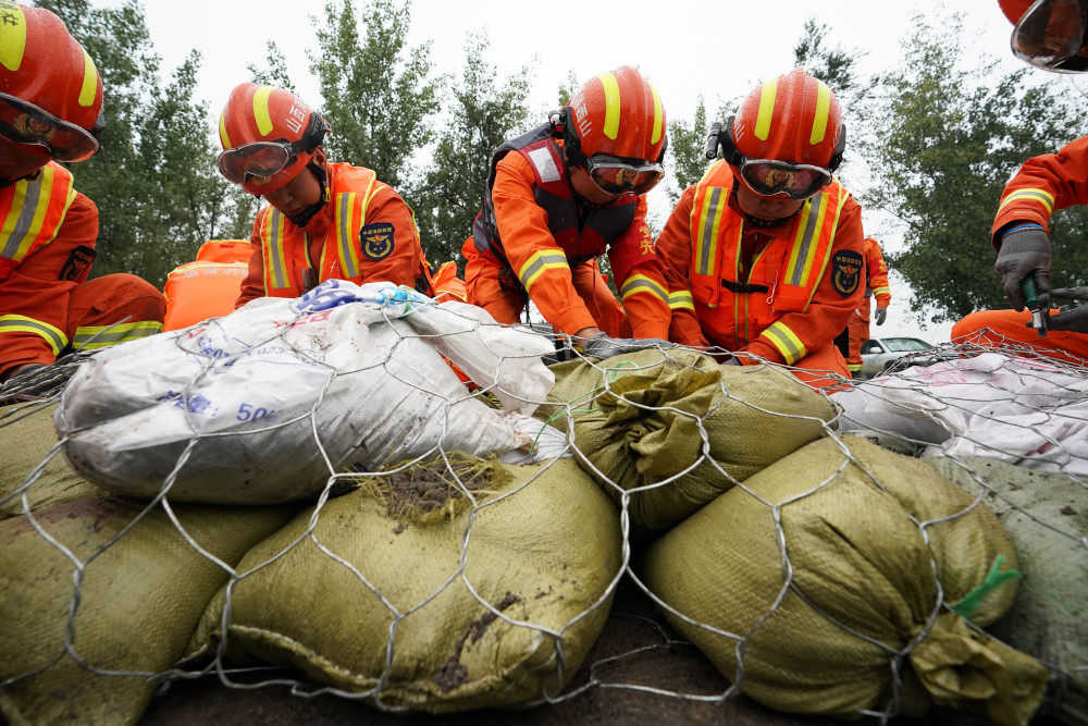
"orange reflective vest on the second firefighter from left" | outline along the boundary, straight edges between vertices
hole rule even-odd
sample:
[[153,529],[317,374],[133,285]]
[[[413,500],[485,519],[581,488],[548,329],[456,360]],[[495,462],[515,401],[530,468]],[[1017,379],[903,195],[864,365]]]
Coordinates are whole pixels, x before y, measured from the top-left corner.
[[[374,172],[362,167],[335,164],[330,188],[333,221],[321,248],[318,264],[319,278],[293,280],[293,270],[310,269],[310,236],[275,207],[268,207],[259,218],[258,234],[264,256],[264,294],[269,297],[297,297],[325,280],[349,280],[362,284],[359,258],[362,242],[359,232],[367,224],[367,207],[387,185],[379,182]],[[419,231],[412,229],[419,243]],[[430,295],[431,281],[426,260],[420,250],[423,272],[416,281],[416,288]]]

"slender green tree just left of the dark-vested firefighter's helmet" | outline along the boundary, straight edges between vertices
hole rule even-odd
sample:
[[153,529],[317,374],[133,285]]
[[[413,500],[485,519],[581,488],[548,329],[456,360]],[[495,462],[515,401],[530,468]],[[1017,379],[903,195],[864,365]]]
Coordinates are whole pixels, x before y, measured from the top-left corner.
[[523,66],[500,81],[497,69],[484,61],[490,47],[485,33],[469,35],[466,64],[452,89],[449,119],[420,183],[405,195],[417,209],[423,250],[433,263],[460,259],[461,244],[480,211],[495,149],[528,131],[530,70]]

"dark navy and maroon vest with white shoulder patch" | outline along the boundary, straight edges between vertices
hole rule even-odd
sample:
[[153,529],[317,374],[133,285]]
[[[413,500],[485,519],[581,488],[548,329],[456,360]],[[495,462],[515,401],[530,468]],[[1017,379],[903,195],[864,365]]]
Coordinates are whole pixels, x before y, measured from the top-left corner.
[[[536,205],[547,212],[548,232],[562,249],[566,259],[552,260],[545,253],[541,259],[530,260],[523,270],[511,269],[498,235],[495,206],[491,199],[498,162],[510,151],[520,153],[532,167],[536,177],[533,197]],[[578,267],[603,255],[608,245],[631,226],[636,202],[634,194],[625,194],[610,205],[590,210],[579,224],[578,205],[567,177],[562,149],[552,139],[552,125],[543,124],[528,134],[503,143],[495,151],[491,160],[491,175],[487,179],[483,208],[472,224],[472,242],[482,256],[503,268],[504,282],[528,288],[529,283],[545,267]]]

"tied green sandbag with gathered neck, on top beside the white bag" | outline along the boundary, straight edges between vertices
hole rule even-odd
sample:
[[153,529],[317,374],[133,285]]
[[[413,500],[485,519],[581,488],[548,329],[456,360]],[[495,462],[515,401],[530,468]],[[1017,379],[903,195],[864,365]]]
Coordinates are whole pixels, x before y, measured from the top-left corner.
[[[834,417],[825,396],[780,367],[719,366],[693,350],[553,370],[548,401],[569,404],[580,460],[617,503],[647,488],[631,494],[630,515],[650,530],[823,436]],[[553,426],[568,424],[565,407],[542,409]]]

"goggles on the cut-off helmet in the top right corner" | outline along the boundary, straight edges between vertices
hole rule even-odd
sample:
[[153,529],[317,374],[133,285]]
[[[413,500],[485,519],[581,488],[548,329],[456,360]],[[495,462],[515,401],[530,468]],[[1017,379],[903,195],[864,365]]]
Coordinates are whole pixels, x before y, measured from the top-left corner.
[[1088,71],[1088,58],[1080,54],[1086,15],[1088,0],[1036,0],[1013,28],[1013,54],[1048,71]]

